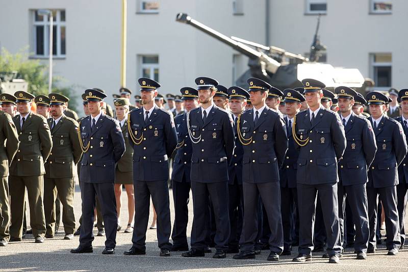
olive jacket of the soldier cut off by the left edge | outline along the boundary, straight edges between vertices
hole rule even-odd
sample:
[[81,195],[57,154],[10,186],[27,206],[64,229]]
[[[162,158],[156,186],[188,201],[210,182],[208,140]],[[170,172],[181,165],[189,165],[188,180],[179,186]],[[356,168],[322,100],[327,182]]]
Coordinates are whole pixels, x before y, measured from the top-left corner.
[[0,145],[0,176],[7,177],[9,175],[9,165],[18,150],[18,135],[10,114],[0,111],[0,125],[0,143],[2,143]]

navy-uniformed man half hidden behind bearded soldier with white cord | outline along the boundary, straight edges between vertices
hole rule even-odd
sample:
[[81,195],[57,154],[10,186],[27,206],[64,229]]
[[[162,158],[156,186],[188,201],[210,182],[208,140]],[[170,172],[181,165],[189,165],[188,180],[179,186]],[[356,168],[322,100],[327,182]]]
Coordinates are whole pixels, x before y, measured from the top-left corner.
[[193,146],[187,131],[187,112],[198,106],[198,91],[196,89],[184,87],[180,89],[180,92],[182,93],[186,113],[174,118],[178,143],[171,174],[174,201],[174,225],[171,233],[173,247],[171,251],[188,251],[187,224]]

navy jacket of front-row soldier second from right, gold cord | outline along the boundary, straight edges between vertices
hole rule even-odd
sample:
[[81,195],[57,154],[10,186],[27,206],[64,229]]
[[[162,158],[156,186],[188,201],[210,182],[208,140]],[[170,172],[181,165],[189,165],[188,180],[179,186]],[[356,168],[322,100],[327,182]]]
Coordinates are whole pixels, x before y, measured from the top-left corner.
[[285,122],[274,110],[265,106],[258,122],[253,122],[253,109],[244,111],[240,118],[243,138],[251,137],[244,145],[242,180],[247,183],[279,182],[288,138]]

